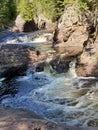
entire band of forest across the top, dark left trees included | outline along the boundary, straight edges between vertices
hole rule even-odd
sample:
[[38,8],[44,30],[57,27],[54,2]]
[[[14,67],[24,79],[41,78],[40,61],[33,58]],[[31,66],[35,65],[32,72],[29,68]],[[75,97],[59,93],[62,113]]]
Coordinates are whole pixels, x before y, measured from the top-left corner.
[[6,27],[17,14],[31,21],[42,12],[47,18],[56,21],[65,5],[77,3],[81,11],[92,11],[98,6],[97,0],[0,0],[0,27]]

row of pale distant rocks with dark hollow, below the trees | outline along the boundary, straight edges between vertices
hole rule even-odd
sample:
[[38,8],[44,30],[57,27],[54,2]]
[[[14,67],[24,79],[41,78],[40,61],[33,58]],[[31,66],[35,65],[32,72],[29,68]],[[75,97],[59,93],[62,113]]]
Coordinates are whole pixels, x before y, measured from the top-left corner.
[[54,32],[55,23],[51,19],[46,18],[43,14],[35,16],[32,21],[27,22],[21,15],[18,15],[15,20],[13,31],[32,32],[38,29],[46,29],[48,32]]

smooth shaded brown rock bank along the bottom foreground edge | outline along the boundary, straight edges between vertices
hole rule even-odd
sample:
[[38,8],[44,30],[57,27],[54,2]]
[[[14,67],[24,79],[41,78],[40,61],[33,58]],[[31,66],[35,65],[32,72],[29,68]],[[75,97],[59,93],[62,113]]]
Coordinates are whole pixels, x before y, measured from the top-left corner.
[[0,130],[98,130],[98,128],[57,125],[34,112],[0,105]]

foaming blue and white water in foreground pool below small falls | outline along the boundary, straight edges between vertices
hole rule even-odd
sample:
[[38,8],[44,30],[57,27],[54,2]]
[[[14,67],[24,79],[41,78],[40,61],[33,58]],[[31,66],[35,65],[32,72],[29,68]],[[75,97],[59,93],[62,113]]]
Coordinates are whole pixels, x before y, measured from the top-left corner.
[[98,79],[78,78],[75,61],[66,74],[51,74],[47,66],[14,82],[18,93],[4,96],[3,105],[29,109],[57,123],[98,126]]

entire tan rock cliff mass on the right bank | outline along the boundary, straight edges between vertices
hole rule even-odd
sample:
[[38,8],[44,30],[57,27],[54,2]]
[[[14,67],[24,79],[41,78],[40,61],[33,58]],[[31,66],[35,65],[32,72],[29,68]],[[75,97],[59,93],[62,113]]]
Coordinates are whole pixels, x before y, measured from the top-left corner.
[[98,77],[98,22],[96,12],[77,13],[79,5],[65,6],[54,33],[54,49],[58,55],[78,56],[78,76]]

